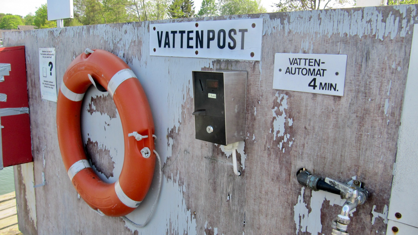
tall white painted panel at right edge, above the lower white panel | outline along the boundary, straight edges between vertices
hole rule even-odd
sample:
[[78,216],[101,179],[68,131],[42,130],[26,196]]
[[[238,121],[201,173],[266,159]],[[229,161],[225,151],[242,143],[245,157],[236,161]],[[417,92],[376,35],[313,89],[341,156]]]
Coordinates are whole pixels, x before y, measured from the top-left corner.
[[[389,219],[418,227],[418,24],[414,25],[408,78],[403,101]],[[400,219],[395,213],[401,213]]]

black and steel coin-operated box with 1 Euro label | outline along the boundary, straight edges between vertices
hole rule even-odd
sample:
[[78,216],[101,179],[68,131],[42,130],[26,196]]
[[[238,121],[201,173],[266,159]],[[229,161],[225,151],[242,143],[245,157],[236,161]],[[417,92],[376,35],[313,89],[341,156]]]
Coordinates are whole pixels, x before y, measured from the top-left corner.
[[193,71],[196,139],[227,145],[245,139],[247,72]]

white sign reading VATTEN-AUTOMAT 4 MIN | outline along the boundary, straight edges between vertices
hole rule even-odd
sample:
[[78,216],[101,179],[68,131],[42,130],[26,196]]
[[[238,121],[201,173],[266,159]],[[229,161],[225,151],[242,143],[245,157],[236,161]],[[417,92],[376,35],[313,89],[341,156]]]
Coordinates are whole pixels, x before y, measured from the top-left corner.
[[346,65],[347,55],[276,53],[273,89],[343,96]]

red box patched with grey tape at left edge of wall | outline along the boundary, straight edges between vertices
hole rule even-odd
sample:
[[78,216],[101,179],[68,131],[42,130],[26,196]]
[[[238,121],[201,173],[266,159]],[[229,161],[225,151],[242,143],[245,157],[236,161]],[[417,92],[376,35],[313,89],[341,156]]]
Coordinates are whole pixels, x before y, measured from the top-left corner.
[[4,76],[4,82],[0,82],[0,93],[7,96],[5,102],[0,101],[2,169],[2,165],[31,162],[33,157],[31,123],[29,114],[25,113],[28,112],[25,108],[29,107],[25,46],[0,47],[0,64],[10,64],[11,69],[9,75]]

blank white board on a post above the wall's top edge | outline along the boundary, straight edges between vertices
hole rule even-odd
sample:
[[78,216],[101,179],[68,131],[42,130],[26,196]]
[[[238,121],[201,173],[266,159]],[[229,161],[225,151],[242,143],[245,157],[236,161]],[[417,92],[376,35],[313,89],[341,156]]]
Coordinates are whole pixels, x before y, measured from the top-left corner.
[[48,20],[74,18],[73,0],[47,0]]

